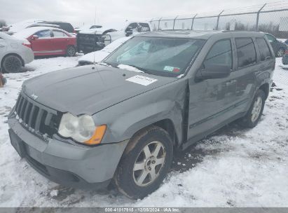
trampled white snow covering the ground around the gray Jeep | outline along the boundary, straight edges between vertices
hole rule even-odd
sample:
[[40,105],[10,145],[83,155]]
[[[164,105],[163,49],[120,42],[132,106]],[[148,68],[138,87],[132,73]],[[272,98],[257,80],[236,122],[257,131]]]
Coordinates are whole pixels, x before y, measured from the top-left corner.
[[7,116],[22,81],[48,71],[74,67],[77,57],[34,60],[20,74],[6,74],[0,89],[0,207],[287,207],[288,70],[277,59],[276,86],[259,125],[222,128],[174,158],[157,191],[129,200],[114,189],[81,191],[48,181],[21,160],[8,138]]

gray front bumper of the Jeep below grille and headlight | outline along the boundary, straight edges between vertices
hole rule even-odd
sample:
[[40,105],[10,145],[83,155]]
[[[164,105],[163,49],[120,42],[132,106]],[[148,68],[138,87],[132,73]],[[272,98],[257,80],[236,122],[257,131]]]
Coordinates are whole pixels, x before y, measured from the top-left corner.
[[75,188],[103,188],[114,177],[128,141],[87,147],[57,139],[44,142],[8,118],[11,144],[27,163],[48,179]]

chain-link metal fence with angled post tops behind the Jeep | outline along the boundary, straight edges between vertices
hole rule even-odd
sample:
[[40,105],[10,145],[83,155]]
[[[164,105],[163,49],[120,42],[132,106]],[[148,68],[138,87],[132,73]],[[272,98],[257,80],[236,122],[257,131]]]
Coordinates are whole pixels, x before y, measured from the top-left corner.
[[153,30],[248,30],[273,34],[288,39],[288,1],[233,8],[210,13],[193,14],[174,18],[153,18]]

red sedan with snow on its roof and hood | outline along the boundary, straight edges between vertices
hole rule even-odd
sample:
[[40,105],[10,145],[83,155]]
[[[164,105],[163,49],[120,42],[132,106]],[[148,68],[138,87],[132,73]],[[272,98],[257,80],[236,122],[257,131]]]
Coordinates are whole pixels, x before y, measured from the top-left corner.
[[76,53],[76,36],[53,27],[29,27],[13,34],[31,43],[34,55],[67,55]]

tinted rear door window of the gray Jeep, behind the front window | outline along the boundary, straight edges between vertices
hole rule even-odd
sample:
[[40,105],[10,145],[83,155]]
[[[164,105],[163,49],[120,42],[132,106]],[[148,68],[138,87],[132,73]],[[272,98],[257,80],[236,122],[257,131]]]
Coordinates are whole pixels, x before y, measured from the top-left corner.
[[235,39],[238,67],[245,67],[256,62],[256,50],[252,39]]

